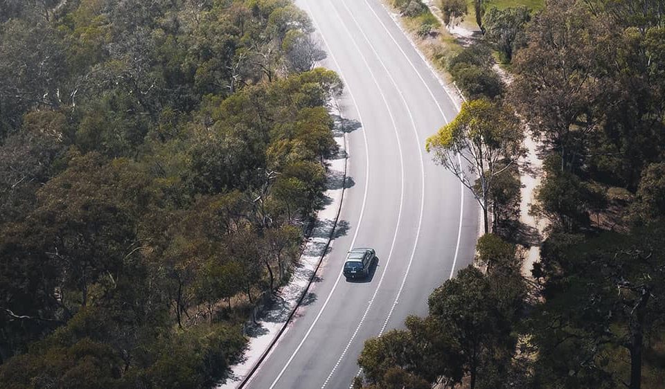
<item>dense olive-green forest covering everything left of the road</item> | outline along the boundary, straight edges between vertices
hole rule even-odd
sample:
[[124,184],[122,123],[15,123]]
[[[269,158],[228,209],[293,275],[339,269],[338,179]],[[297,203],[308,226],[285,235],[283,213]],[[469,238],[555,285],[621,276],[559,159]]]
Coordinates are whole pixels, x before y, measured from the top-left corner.
[[321,203],[290,0],[0,0],[0,387],[196,388]]

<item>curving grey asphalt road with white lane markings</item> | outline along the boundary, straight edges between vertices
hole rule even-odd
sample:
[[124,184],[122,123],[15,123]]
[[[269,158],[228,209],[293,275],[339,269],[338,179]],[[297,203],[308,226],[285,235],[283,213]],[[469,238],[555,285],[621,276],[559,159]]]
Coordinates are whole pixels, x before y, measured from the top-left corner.
[[[297,0],[314,21],[324,65],[346,84],[348,189],[339,236],[248,388],[348,388],[367,338],[427,314],[427,296],[474,254],[478,213],[459,181],[434,165],[427,136],[456,107],[378,0]],[[375,248],[364,282],[341,275],[353,246]]]

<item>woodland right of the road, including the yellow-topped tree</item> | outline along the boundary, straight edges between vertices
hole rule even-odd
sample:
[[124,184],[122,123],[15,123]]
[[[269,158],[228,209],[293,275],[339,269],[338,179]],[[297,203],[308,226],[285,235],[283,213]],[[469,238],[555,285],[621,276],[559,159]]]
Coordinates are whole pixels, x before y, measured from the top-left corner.
[[[440,3],[448,17],[466,12],[466,1]],[[662,388],[665,2],[547,0],[484,15],[486,1],[473,3],[484,36],[445,58],[470,101],[427,150],[460,177],[450,156],[472,155],[479,178],[466,183],[493,233],[429,296],[428,316],[366,341],[354,386]],[[531,212],[549,222],[528,277],[531,231],[515,217],[525,134],[544,159]]]

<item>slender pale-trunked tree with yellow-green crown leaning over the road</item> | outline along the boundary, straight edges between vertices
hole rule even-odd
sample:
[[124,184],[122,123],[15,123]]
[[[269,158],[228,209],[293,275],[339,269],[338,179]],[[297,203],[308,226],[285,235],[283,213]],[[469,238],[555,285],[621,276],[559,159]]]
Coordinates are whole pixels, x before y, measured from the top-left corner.
[[[489,232],[493,182],[500,174],[507,174],[522,155],[522,138],[520,122],[513,112],[488,100],[465,102],[450,124],[427,138],[425,148],[434,154],[434,161],[474,194],[483,209],[485,233]],[[478,185],[474,177],[478,177]]]

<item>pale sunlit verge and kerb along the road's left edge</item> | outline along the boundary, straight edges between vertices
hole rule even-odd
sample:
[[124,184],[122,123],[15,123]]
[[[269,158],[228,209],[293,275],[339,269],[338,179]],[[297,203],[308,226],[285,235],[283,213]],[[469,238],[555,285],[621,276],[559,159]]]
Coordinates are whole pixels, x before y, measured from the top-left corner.
[[[337,114],[338,117],[342,117],[341,112],[337,109],[337,105],[333,105],[330,111],[331,114]],[[286,310],[288,314],[286,318],[283,319],[283,323],[268,323],[259,320],[259,324],[263,324],[265,327],[271,327],[267,330],[268,333],[264,336],[252,338],[249,341],[248,351],[245,354],[245,361],[231,367],[233,372],[232,377],[236,377],[236,380],[234,381],[233,378],[229,378],[227,379],[227,383],[218,385],[218,388],[243,388],[249,383],[254,372],[256,372],[260,364],[272,351],[274,345],[285,332],[289,323],[291,323],[296,310],[301,306],[303,300],[305,300],[305,297],[308,295],[310,286],[319,271],[323,259],[328,253],[332,241],[334,240],[337,221],[339,221],[339,214],[342,211],[344,192],[346,191],[346,172],[348,164],[348,137],[343,124],[339,123],[339,125],[342,125],[342,132],[335,136],[335,142],[337,142],[340,149],[337,154],[337,159],[328,161],[330,163],[328,177],[333,177],[335,172],[342,172],[342,188],[335,189],[335,183],[330,179],[328,180],[328,183],[326,184],[328,189],[324,195],[330,197],[332,201],[317,213],[317,220],[314,222],[312,236],[308,238],[308,242],[305,244],[305,249],[301,255],[301,264],[294,270],[294,274],[288,284],[282,287],[280,293],[278,293],[278,298],[281,298],[281,300],[285,301],[285,304],[289,306],[286,309],[281,309],[281,312],[278,312],[280,311],[279,308],[275,311],[278,316],[279,314],[284,314],[284,311]],[[339,158],[340,155],[343,156],[343,158]],[[335,163],[342,159],[343,163]],[[339,170],[335,170],[335,165],[337,165]],[[331,211],[334,212],[334,217],[323,217],[324,214],[330,214]],[[330,220],[332,220],[332,223],[326,223]],[[319,237],[317,237],[317,235]],[[313,255],[314,252],[316,252],[316,255]],[[316,259],[316,263],[312,263],[313,261],[306,263],[308,258]],[[294,298],[295,296],[297,296],[297,298]],[[289,301],[295,301],[295,303],[290,306],[291,304]],[[265,312],[263,317],[265,318],[266,316],[269,316],[270,313],[270,311]],[[281,322],[281,320],[279,321]],[[263,350],[260,350],[261,347],[263,347]],[[247,354],[250,355],[248,356]],[[245,373],[243,374],[243,372]]]

